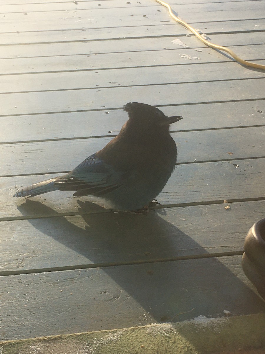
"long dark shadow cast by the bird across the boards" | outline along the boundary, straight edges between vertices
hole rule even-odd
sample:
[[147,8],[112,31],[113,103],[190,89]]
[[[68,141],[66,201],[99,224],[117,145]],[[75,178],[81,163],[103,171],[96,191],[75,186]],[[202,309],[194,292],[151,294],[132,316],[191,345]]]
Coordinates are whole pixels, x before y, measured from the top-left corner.
[[[105,272],[150,314],[151,321],[170,321],[176,314],[194,307],[192,312],[180,314],[174,321],[202,314],[220,316],[224,309],[234,314],[265,310],[263,301],[218,258],[163,262],[165,258],[189,253],[207,254],[207,251],[166,221],[159,211],[135,215],[106,212],[91,202],[78,201],[78,204],[79,216],[28,220],[64,246],[58,254],[58,249],[43,245],[46,249],[51,247],[49,258],[54,259],[55,267],[78,261],[79,264],[98,265],[102,274]],[[32,200],[27,200],[19,210],[25,215],[31,210],[54,214],[51,208]],[[63,260],[57,261],[60,257]],[[240,257],[238,259],[240,262]],[[146,263],[148,261],[150,263]],[[137,264],[130,264],[134,262]],[[110,264],[113,266],[106,266]],[[91,272],[91,269],[84,272]],[[104,276],[101,281],[104,282]],[[89,289],[87,298],[90,298]],[[118,326],[114,319],[113,324]]]

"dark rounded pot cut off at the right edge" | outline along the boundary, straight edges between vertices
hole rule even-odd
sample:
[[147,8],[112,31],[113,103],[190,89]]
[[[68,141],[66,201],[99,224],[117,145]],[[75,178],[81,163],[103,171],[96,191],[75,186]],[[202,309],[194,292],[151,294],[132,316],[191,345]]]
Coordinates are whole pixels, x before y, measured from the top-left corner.
[[246,236],[242,268],[265,300],[265,219],[256,222]]

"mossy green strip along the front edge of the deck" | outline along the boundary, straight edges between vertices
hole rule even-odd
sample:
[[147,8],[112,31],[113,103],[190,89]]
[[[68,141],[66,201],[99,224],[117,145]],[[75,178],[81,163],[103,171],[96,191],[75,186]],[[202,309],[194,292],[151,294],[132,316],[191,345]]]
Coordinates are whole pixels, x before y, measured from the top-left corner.
[[254,354],[265,353],[264,333],[265,314],[200,316],[185,322],[5,341],[0,354]]

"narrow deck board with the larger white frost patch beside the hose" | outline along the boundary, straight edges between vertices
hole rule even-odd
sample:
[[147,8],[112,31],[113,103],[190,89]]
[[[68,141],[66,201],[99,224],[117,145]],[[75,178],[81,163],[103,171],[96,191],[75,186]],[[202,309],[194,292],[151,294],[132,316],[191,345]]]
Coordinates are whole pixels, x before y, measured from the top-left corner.
[[[11,45],[0,47],[0,58],[18,57],[43,57],[43,56],[70,56],[70,55],[91,55],[100,53],[121,53],[134,51],[155,51],[155,50],[181,50],[181,46],[172,43],[175,37],[164,38],[132,38],[116,39],[107,41],[84,41],[66,42],[51,44],[28,44]],[[204,48],[205,45],[195,37],[182,36],[181,40],[191,48]],[[237,33],[237,34],[215,34],[211,35],[213,43],[223,46],[239,46],[264,44],[264,35],[261,32]],[[221,55],[220,55],[221,56]],[[78,57],[76,57],[78,60]],[[65,58],[67,61],[67,57]]]

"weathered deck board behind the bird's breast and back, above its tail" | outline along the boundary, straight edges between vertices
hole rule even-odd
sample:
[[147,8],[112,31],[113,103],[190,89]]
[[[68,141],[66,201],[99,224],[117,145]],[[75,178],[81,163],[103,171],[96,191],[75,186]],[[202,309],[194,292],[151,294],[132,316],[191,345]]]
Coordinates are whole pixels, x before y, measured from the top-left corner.
[[[265,127],[172,133],[179,164],[214,160],[264,157]],[[74,139],[4,144],[0,176],[69,171],[112,138]],[[70,152],[70,153],[69,153]],[[67,159],[65,159],[67,154]]]

